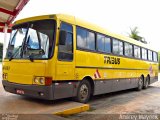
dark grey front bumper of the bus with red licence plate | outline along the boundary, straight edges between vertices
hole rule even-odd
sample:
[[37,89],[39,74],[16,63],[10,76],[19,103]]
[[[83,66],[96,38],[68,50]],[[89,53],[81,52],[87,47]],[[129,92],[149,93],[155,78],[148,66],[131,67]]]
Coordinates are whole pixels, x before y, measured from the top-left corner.
[[23,85],[11,83],[6,80],[2,80],[3,87],[5,91],[35,97],[45,100],[53,100],[53,86],[39,86],[39,85]]

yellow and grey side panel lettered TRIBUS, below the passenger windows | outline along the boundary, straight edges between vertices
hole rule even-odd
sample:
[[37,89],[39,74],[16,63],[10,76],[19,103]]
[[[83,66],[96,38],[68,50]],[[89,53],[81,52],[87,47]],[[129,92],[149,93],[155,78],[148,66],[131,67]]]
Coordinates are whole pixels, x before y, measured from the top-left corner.
[[[117,59],[120,60],[119,63],[116,63]],[[156,81],[152,79],[157,75],[156,66],[157,64],[144,60],[76,51],[77,80],[91,76],[95,83],[95,95],[138,87],[141,75],[144,76],[144,80],[150,75],[150,83],[153,83]]]

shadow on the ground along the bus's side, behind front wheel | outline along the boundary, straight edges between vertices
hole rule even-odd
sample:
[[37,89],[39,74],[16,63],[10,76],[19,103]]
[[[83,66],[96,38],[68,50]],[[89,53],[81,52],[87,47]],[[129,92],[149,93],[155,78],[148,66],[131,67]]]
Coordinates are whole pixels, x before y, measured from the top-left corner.
[[[158,88],[159,89],[159,88]],[[134,89],[127,89],[122,91],[116,91],[101,95],[93,96],[89,101],[89,104],[92,106],[96,106],[98,104],[106,103],[105,105],[115,105],[115,104],[125,104],[126,102],[134,101],[138,97],[142,97],[149,93],[155,93],[157,91],[157,86],[149,86],[147,89],[143,89],[141,91],[137,91]],[[99,105],[98,105],[99,106]]]

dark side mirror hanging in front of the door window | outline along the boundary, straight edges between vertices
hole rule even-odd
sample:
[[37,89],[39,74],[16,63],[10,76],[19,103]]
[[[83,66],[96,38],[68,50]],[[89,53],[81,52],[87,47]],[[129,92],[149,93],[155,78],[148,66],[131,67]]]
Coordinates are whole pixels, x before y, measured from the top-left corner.
[[66,39],[67,39],[67,32],[61,30],[59,35],[59,45],[65,45]]

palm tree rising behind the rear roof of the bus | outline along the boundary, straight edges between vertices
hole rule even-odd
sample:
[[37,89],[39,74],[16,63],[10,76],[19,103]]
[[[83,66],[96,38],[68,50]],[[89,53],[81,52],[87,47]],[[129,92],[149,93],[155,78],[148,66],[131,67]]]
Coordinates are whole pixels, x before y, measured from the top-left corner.
[[143,42],[143,43],[147,44],[147,41],[145,40],[145,38],[139,36],[138,27],[134,27],[133,29],[130,28],[129,37],[133,38],[133,39],[135,39],[137,41],[140,41],[140,42]]

